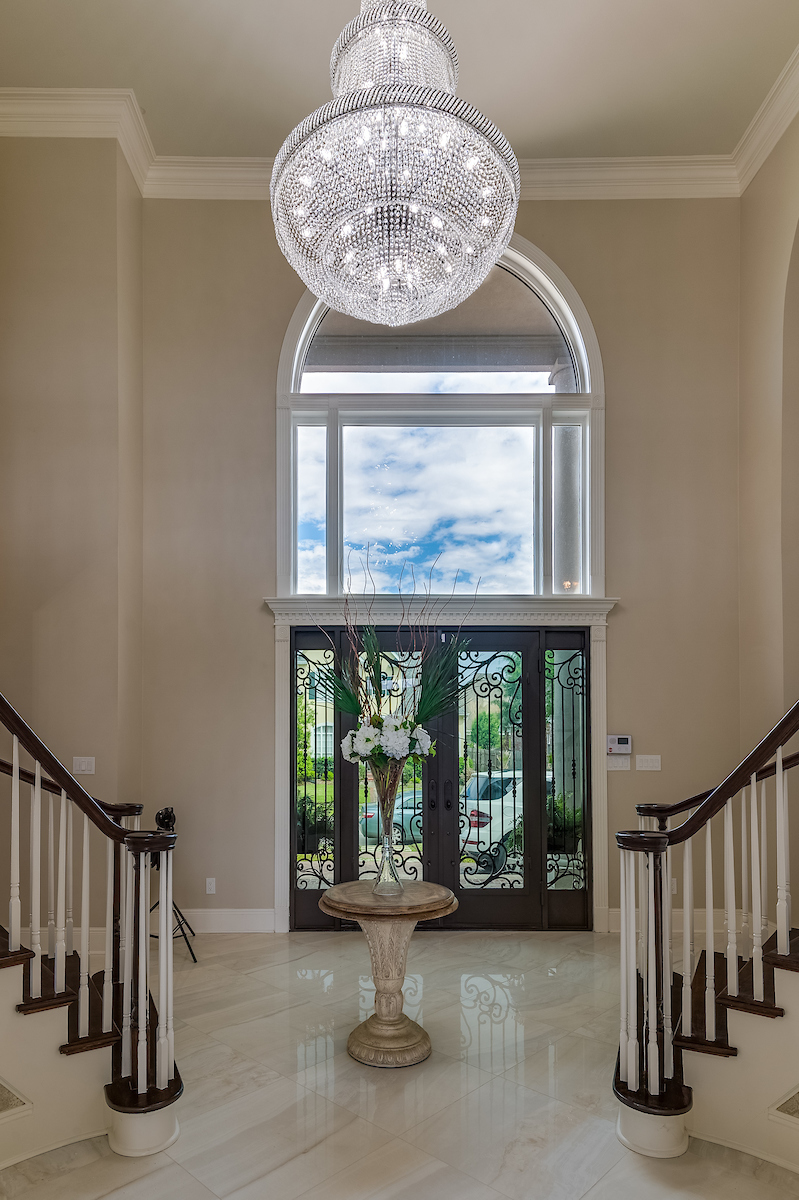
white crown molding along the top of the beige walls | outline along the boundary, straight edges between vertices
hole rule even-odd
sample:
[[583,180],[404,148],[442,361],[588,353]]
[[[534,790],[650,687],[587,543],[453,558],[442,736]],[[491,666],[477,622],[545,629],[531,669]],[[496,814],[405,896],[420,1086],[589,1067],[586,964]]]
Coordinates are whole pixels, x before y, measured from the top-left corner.
[[[732,154],[521,160],[521,198],[734,198],[798,114],[799,47]],[[148,199],[269,200],[272,158],[157,156],[136,95],[127,88],[0,88],[0,137],[116,138]]]

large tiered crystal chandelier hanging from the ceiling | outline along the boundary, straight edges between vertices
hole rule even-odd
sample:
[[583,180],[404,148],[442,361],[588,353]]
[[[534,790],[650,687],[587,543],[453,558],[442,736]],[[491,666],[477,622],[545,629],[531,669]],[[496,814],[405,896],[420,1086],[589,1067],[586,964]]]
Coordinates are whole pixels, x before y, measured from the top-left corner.
[[361,0],[334,47],[334,101],[283,143],[277,242],[331,308],[382,325],[465,300],[518,205],[507,140],[455,95],[457,52],[426,0]]

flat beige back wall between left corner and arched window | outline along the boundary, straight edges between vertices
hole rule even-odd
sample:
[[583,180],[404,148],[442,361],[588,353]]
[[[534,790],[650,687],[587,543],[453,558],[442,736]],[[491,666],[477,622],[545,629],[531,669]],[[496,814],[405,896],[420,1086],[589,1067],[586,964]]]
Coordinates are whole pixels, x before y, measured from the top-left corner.
[[[144,794],[187,907],[272,907],[275,379],[302,288],[266,204],[145,202]],[[216,895],[205,896],[205,878]]]

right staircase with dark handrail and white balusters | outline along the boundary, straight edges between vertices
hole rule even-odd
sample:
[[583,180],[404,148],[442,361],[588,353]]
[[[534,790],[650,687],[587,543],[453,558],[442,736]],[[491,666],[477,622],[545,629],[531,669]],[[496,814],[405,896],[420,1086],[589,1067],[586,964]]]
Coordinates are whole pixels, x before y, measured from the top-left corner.
[[[797,732],[799,703],[719,787],[638,805],[639,829],[617,834],[613,1090],[619,1138],[639,1153],[674,1157],[692,1135],[799,1171],[788,803],[799,754],[783,752]],[[678,872],[681,912],[672,908]]]

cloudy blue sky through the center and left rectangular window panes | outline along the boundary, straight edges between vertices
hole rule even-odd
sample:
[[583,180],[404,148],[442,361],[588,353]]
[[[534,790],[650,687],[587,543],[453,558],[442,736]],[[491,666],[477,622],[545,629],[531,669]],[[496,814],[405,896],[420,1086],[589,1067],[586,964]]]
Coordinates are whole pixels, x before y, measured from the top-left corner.
[[[300,427],[298,588],[325,589],[324,427]],[[378,592],[529,593],[534,586],[530,426],[346,426],[344,583]],[[348,568],[350,578],[348,581]],[[457,574],[457,583],[456,583]]]

